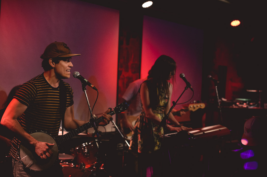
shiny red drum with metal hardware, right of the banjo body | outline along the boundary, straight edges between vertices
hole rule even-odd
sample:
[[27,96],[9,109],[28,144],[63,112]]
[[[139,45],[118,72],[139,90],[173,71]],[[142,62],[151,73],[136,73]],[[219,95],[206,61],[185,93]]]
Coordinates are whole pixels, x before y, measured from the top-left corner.
[[92,167],[96,164],[96,154],[98,144],[96,141],[86,142],[74,149],[74,156],[77,164],[85,164],[85,168]]

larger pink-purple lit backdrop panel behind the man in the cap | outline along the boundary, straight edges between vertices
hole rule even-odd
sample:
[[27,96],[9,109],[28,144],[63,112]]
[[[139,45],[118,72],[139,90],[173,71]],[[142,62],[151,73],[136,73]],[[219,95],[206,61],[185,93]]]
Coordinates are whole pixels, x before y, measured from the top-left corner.
[[[1,99],[5,99],[14,86],[41,74],[40,56],[45,47],[62,41],[68,44],[72,53],[81,54],[72,58],[71,72],[79,71],[99,91],[93,113],[115,107],[118,36],[118,10],[75,0],[2,0]],[[72,76],[65,81],[74,90],[75,118],[88,120],[89,110],[81,82]],[[92,108],[97,92],[90,87],[87,89]],[[105,129],[115,131],[111,124]]]

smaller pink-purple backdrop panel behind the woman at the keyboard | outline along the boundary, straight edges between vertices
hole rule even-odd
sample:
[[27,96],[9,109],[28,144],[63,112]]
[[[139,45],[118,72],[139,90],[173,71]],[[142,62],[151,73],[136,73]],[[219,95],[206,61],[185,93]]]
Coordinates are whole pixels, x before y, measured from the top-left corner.
[[[194,96],[188,103],[201,101],[203,31],[144,16],[141,78],[147,76],[156,59],[163,54],[172,57],[177,64],[171,101],[176,101],[186,86],[180,73],[184,73],[194,89]],[[186,90],[178,103],[186,102],[192,95],[190,89]],[[175,108],[181,108],[181,105]]]

